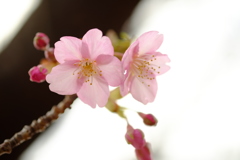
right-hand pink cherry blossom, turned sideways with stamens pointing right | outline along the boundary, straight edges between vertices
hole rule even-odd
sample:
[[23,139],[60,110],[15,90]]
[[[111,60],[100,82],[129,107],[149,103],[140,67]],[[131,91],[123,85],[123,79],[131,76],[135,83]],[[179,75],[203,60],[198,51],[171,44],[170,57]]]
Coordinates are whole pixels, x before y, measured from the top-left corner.
[[166,54],[157,52],[161,46],[163,35],[150,31],[141,35],[126,50],[122,58],[123,69],[126,71],[121,94],[131,93],[133,98],[147,104],[153,102],[158,85],[156,76],[167,72],[166,65],[170,59]]

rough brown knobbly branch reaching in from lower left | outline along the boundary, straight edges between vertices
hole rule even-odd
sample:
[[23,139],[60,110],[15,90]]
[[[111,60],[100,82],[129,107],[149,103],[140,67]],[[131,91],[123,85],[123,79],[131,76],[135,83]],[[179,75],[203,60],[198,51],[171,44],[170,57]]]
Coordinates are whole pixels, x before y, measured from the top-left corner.
[[7,153],[10,154],[12,149],[28,139],[31,139],[33,135],[39,132],[43,132],[54,120],[56,120],[59,114],[63,113],[66,108],[70,108],[70,105],[77,98],[76,95],[65,96],[65,98],[53,106],[44,116],[39,117],[37,120],[32,121],[29,126],[24,126],[23,129],[15,133],[10,139],[6,139],[0,144],[0,156]]

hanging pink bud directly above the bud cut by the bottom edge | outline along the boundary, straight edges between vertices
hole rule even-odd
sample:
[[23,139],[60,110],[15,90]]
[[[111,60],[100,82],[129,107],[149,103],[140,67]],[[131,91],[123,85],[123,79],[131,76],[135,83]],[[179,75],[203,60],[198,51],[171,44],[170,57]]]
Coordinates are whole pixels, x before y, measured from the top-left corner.
[[126,141],[133,145],[136,149],[141,149],[146,141],[144,139],[144,134],[140,129],[134,129],[128,124],[127,133],[125,134]]

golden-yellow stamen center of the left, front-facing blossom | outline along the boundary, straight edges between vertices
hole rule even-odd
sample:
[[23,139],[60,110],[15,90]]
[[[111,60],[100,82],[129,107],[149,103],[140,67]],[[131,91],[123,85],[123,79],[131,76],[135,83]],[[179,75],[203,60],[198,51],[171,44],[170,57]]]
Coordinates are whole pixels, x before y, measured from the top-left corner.
[[73,75],[77,71],[78,78],[84,78],[84,81],[90,85],[92,85],[93,76],[102,76],[102,71],[97,67],[96,61],[86,58],[74,63],[74,65],[77,66],[77,69],[73,72]]

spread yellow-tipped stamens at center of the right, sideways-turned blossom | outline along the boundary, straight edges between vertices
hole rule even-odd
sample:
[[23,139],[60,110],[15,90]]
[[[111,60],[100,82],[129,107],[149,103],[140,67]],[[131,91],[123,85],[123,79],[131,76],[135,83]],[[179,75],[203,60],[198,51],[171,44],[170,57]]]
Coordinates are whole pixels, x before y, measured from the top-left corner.
[[[153,80],[160,73],[160,66],[155,64],[155,55],[142,55],[135,57],[132,64],[132,73],[144,84],[145,80]],[[150,87],[150,84],[147,84]]]

